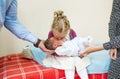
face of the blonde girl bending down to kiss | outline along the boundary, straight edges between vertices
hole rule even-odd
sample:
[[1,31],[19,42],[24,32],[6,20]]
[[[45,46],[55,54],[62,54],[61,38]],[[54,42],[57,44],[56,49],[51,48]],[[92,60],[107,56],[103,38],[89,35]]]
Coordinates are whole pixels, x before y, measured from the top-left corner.
[[57,39],[57,40],[62,40],[67,35],[67,32],[61,32],[60,33],[55,29],[52,29],[52,31],[53,31],[54,38]]

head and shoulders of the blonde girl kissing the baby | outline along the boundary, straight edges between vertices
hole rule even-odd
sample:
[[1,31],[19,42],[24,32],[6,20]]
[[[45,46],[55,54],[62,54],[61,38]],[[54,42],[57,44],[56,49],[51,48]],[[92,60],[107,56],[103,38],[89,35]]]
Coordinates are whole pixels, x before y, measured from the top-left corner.
[[70,23],[67,17],[63,15],[63,11],[54,12],[54,20],[48,34],[48,38],[50,37],[55,37],[58,40],[63,38],[71,40],[76,37],[75,31],[70,28]]

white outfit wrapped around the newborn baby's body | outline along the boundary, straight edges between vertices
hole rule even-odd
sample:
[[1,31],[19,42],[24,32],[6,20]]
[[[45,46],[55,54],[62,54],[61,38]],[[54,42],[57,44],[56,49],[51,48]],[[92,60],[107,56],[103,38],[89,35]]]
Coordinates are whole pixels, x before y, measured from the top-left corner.
[[57,47],[55,52],[62,56],[79,56],[80,52],[84,51],[86,47],[85,43],[91,43],[92,37],[75,37],[70,41],[64,42],[60,47]]

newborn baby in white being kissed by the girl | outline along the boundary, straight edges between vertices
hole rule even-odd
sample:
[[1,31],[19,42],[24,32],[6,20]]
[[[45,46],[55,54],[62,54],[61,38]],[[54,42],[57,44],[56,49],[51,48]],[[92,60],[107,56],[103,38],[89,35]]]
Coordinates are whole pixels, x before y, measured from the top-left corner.
[[91,43],[92,37],[75,37],[72,40],[65,41],[57,40],[51,37],[45,41],[45,47],[50,50],[55,50],[55,53],[60,56],[80,56],[80,52],[83,52],[86,47],[84,44]]

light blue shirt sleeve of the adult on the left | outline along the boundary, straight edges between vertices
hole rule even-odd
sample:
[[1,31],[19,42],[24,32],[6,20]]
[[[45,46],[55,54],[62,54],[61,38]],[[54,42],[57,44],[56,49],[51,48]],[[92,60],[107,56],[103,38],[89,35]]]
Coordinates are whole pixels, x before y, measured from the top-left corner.
[[5,16],[5,27],[18,38],[34,43],[37,37],[29,32],[17,18],[17,0],[13,0],[9,5]]

